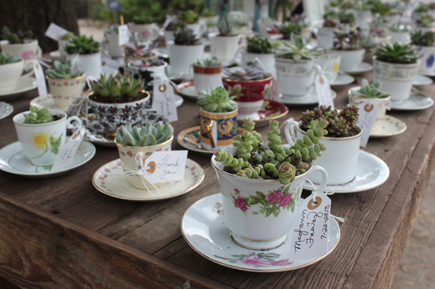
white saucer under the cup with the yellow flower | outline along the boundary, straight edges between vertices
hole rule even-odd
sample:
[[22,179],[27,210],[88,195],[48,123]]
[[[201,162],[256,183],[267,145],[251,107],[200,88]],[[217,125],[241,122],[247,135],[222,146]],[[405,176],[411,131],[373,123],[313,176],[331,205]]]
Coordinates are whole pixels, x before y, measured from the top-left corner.
[[23,153],[20,142],[16,141],[0,149],[0,170],[24,177],[56,177],[88,163],[93,158],[93,155],[95,155],[95,146],[83,140],[74,155],[72,163],[62,169],[52,171],[52,165],[32,165]]

